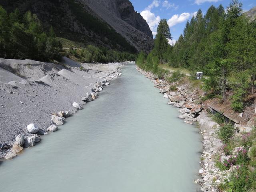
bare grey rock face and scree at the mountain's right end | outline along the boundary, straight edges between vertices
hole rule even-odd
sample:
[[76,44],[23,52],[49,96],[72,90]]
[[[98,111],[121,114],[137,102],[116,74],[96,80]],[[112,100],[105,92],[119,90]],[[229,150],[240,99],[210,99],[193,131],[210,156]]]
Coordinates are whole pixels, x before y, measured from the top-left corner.
[[134,11],[129,0],[81,0],[100,18],[135,46],[138,51],[149,52],[153,46],[153,35],[142,16]]

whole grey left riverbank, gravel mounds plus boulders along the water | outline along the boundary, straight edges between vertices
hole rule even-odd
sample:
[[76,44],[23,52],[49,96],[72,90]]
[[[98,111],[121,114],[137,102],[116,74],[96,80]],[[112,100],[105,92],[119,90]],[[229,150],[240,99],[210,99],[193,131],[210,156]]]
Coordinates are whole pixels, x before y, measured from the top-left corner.
[[59,64],[0,59],[0,159],[15,157],[47,131],[57,130],[120,76],[121,66],[68,58]]

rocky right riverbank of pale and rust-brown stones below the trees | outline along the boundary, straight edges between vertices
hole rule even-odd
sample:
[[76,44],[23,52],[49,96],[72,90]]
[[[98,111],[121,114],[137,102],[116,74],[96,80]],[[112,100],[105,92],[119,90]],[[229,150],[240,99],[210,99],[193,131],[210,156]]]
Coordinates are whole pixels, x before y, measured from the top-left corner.
[[[216,155],[224,156],[223,143],[216,134],[220,126],[209,117],[206,111],[207,107],[200,102],[200,97],[204,96],[205,93],[198,88],[193,89],[189,83],[177,85],[177,82],[174,82],[170,84],[166,80],[158,79],[156,75],[150,72],[140,68],[137,68],[137,70],[149,78],[155,87],[160,89],[164,98],[170,100],[168,104],[180,108],[179,118],[187,124],[198,125],[199,132],[202,134],[204,151],[200,160],[202,169],[198,171],[200,179],[196,179],[194,182],[201,186],[201,191],[218,191],[218,184],[228,178],[230,171],[221,171],[215,166]],[[176,86],[176,89],[170,90],[170,87],[173,86]]]

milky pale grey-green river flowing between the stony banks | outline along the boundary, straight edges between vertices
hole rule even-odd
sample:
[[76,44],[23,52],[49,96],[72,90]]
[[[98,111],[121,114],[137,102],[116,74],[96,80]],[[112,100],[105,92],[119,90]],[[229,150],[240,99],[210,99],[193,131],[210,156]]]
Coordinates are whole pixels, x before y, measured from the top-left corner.
[[198,191],[200,134],[167,102],[135,65],[126,65],[57,132],[3,162],[0,191]]

